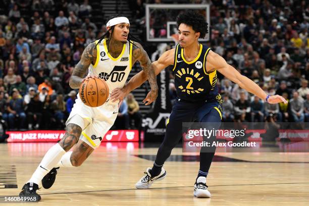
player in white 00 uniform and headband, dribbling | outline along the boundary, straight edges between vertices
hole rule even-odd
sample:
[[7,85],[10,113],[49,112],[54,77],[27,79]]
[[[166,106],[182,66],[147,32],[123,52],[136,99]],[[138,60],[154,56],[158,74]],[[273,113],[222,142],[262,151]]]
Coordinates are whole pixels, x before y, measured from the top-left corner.
[[[144,101],[150,104],[157,98],[158,85],[151,61],[143,47],[131,40],[134,37],[129,34],[129,27],[126,17],[108,21],[108,32],[84,49],[81,60],[73,70],[71,88],[78,89],[86,79],[99,77],[107,82],[112,92],[125,85],[132,65],[139,61],[151,87]],[[84,78],[87,70],[88,75]],[[46,152],[32,177],[23,186],[20,196],[30,196],[34,201],[39,201],[41,197],[36,190],[40,183],[48,189],[54,184],[59,167],[80,166],[114,124],[119,102],[107,99],[104,105],[92,108],[84,105],[77,96],[66,122],[64,137]],[[69,151],[75,144],[73,151]]]

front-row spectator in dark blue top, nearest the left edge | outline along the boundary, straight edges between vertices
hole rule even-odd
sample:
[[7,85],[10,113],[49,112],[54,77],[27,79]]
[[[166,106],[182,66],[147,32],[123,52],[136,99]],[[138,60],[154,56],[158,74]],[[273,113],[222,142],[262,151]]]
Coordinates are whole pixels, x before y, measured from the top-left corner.
[[[19,123],[19,129],[23,128],[24,122],[26,120],[26,114],[24,112],[23,99],[19,97],[17,89],[13,90],[12,99],[10,100],[8,105],[8,112],[9,128],[15,129],[14,126],[17,125],[15,125],[14,122]],[[15,121],[16,118],[18,118],[19,120]]]

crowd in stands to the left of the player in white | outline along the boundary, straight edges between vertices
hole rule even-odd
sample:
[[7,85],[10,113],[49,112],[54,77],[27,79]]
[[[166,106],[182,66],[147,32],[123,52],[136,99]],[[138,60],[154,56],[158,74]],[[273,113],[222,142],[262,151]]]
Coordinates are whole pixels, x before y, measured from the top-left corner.
[[[0,15],[2,123],[11,130],[64,129],[78,92],[69,86],[73,68],[84,47],[105,33],[106,26],[98,29],[90,21],[92,8],[87,0],[79,4],[53,0],[4,1],[2,6],[5,12]],[[27,14],[22,14],[23,11]],[[124,127],[139,128],[138,108],[132,102],[126,108],[129,119]],[[132,118],[137,123],[130,126]]]

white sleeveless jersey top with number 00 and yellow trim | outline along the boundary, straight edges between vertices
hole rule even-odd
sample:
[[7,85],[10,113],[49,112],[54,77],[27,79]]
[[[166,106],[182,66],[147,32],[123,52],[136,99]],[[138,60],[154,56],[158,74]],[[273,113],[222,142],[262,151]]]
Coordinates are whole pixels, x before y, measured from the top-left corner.
[[[95,41],[96,44],[97,42],[98,40]],[[117,58],[113,58],[108,53],[106,39],[96,45],[96,50],[96,62],[89,66],[88,76],[97,75],[104,79],[109,86],[110,93],[115,88],[124,87],[132,67],[132,43],[124,44]]]

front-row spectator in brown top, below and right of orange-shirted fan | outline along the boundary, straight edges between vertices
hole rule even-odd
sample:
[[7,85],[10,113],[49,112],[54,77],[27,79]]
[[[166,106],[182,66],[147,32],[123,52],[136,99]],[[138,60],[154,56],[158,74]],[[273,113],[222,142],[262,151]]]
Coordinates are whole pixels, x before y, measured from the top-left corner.
[[56,99],[52,102],[51,109],[54,111],[58,128],[63,128],[65,126],[64,112],[66,111],[66,102],[64,102],[62,94],[57,95]]

